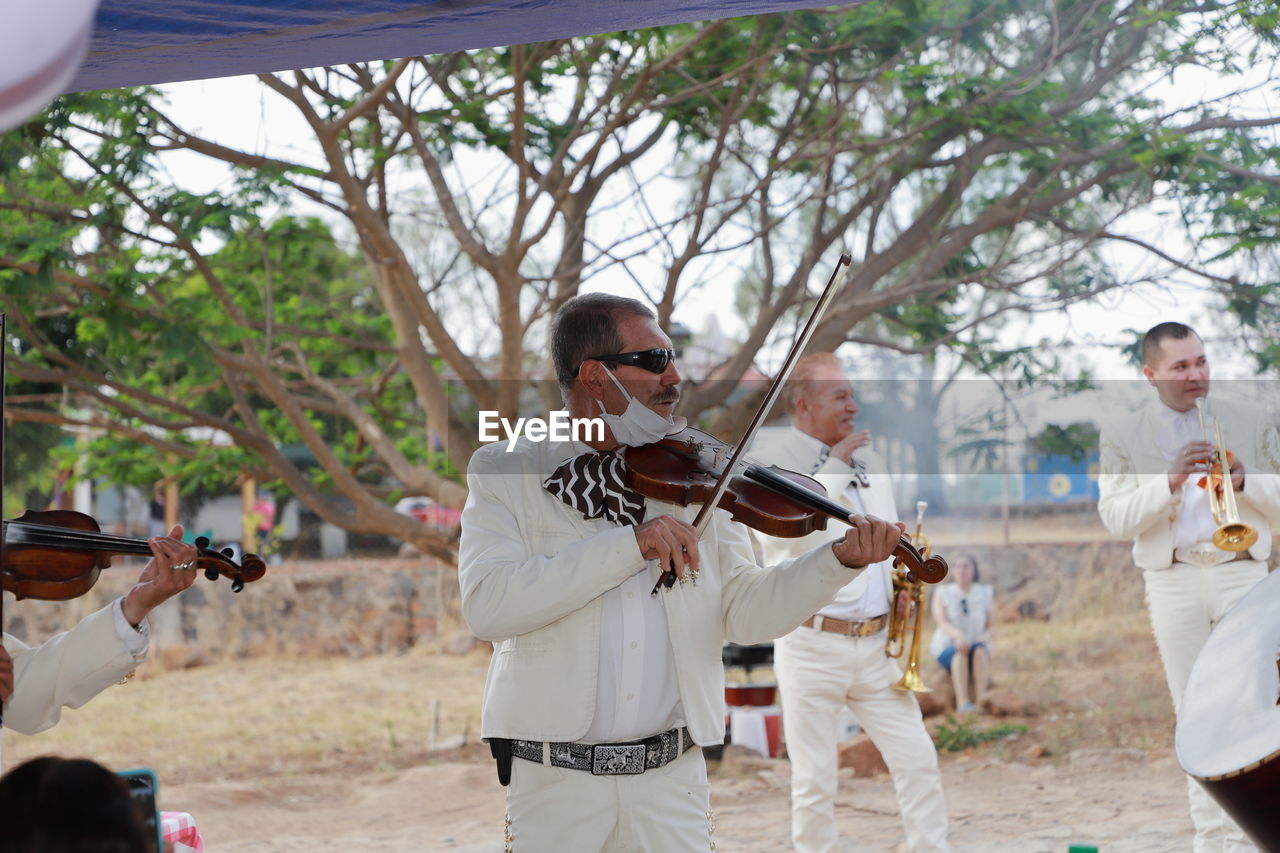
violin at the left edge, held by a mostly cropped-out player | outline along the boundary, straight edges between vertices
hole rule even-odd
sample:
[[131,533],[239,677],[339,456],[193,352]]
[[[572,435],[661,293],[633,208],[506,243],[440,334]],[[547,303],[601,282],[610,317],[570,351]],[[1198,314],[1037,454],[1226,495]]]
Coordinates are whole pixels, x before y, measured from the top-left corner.
[[[69,601],[92,589],[99,573],[111,565],[113,555],[151,556],[146,539],[101,532],[91,516],[72,510],[27,511],[4,523],[3,588],[14,597],[37,601]],[[205,578],[232,579],[232,592],[266,574],[257,555],[244,555],[237,564],[230,548],[214,551],[207,537],[196,539],[196,565]]]

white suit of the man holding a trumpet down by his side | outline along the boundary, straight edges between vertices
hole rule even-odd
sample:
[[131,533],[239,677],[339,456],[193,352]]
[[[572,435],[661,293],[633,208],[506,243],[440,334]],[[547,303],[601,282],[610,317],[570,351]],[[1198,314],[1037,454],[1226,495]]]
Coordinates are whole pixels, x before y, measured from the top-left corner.
[[[773,428],[762,430],[750,457],[809,474],[831,500],[850,510],[897,520],[890,475],[877,453],[865,447],[854,453],[854,461],[865,469],[868,484],[851,489],[856,471],[840,459],[823,459],[823,450],[820,441],[794,426]],[[769,561],[831,542],[844,530],[844,524],[829,521],[827,530],[801,539],[759,540]],[[887,613],[893,592],[891,571],[892,560],[870,566],[814,613],[846,621]],[[908,847],[916,852],[950,849],[937,749],[915,695],[892,686],[902,671],[884,654],[884,630],[870,637],[842,637],[801,626],[774,644],[782,726],[791,760],[791,835],[797,853],[840,849],[835,818],[836,729],[844,707],[854,712],[888,765]]]

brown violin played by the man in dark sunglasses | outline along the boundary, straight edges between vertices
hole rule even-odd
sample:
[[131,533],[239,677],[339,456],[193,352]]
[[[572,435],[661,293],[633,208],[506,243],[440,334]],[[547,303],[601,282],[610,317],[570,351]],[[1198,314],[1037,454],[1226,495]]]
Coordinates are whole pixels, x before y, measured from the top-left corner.
[[[713,500],[726,461],[733,455],[732,444],[686,426],[652,444],[626,448],[622,455],[625,479],[644,497],[680,506],[705,505]],[[850,515],[850,510],[831,501],[822,483],[812,476],[750,461],[730,478],[716,506],[753,530],[781,538],[824,530],[828,517],[849,524]],[[895,546],[893,557],[906,567],[913,581],[936,584],[947,576],[945,558],[938,555],[923,557],[906,537]],[[671,587],[673,581],[675,574],[668,570],[659,583]]]

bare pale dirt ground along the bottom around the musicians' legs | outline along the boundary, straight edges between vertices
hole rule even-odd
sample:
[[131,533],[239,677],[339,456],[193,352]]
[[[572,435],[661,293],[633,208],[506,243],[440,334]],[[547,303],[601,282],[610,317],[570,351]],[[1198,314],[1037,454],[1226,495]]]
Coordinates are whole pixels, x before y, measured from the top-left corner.
[[[758,760],[713,770],[717,850],[790,850],[788,767]],[[956,850],[1107,853],[1190,849],[1185,788],[1169,756],[1126,749],[1073,754],[1066,766],[943,758]],[[165,799],[189,807],[210,852],[499,853],[502,793],[479,757],[398,772],[312,775],[288,783],[189,783]],[[902,841],[887,777],[841,781],[836,816],[849,849]],[[568,852],[571,853],[571,852]]]

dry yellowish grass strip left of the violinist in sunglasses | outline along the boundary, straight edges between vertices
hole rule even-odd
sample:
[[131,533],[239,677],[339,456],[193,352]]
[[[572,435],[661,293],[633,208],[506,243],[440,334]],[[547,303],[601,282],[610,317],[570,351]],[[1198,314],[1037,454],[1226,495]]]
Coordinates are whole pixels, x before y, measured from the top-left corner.
[[[486,647],[485,647],[486,648]],[[255,658],[157,672],[106,690],[54,729],[4,734],[5,763],[37,754],[148,766],[173,784],[398,768],[479,731],[486,651],[362,660]],[[439,707],[439,727],[435,713]]]

